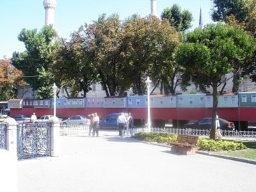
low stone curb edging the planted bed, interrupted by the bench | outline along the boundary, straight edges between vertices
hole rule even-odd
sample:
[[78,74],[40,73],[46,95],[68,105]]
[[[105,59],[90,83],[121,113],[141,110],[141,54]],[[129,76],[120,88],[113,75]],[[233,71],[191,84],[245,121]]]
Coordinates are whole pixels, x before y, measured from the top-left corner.
[[[140,141],[140,140],[136,140],[136,139],[133,139],[133,138],[129,138],[129,139],[130,140],[135,140],[135,141]],[[172,147],[170,145],[164,145],[164,144],[161,144],[161,143],[152,143],[152,142],[147,142],[147,141],[140,141],[140,142],[141,143],[146,143],[148,145],[157,145],[157,146],[160,146],[160,147],[168,147],[168,148]],[[196,150],[196,154],[218,157],[218,158],[228,159],[228,160],[232,160],[232,161],[239,161],[239,162],[242,162],[242,163],[256,164],[256,161],[253,161],[253,160],[250,160],[250,159],[242,159],[242,158],[238,158],[238,157],[223,156],[223,155],[212,154],[211,152],[204,152],[204,151],[200,151],[200,150]]]

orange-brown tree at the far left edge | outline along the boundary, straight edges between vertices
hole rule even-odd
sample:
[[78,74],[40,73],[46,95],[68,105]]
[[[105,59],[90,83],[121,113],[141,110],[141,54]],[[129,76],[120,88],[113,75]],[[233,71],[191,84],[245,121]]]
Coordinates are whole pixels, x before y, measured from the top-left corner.
[[16,99],[17,87],[24,84],[22,72],[9,60],[0,60],[0,100]]

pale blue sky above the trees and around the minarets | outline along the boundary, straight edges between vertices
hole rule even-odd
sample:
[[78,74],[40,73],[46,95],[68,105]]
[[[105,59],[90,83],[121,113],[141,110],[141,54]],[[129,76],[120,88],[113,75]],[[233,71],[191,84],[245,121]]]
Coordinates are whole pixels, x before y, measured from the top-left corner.
[[[164,8],[179,4],[182,10],[193,14],[193,27],[198,27],[200,6],[204,24],[211,23],[211,0],[157,0],[157,15]],[[146,17],[151,12],[150,0],[57,0],[54,26],[58,35],[70,39],[70,33],[77,31],[85,22],[90,24],[99,15],[117,13],[121,20],[138,13]],[[12,53],[25,51],[17,36],[23,28],[40,31],[45,24],[43,0],[1,0],[0,59],[11,58]]]

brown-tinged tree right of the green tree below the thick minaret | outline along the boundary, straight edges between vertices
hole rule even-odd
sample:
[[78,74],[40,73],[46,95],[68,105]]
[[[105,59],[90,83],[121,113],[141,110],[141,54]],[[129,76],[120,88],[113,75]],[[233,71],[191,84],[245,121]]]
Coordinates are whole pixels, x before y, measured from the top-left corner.
[[72,33],[70,42],[63,42],[54,54],[56,62],[52,70],[55,77],[60,79],[62,88],[72,87],[72,94],[67,92],[68,97],[78,97],[81,91],[86,97],[92,83],[97,81],[97,71],[90,52],[84,46],[83,33],[83,27]]

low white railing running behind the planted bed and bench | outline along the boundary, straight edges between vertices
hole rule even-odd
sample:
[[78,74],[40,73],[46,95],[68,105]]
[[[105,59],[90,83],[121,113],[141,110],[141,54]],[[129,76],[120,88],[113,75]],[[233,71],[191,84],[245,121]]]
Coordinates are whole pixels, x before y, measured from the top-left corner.
[[[221,136],[223,137],[246,137],[246,138],[256,138],[256,131],[221,131]],[[136,134],[138,132],[148,132],[147,128],[136,128],[133,129],[131,132],[127,132],[124,130],[123,136],[131,136],[133,134]],[[204,130],[204,129],[175,129],[175,128],[151,128],[151,132],[165,132],[168,134],[190,134],[190,135],[196,135],[196,136],[209,136],[210,131]]]

